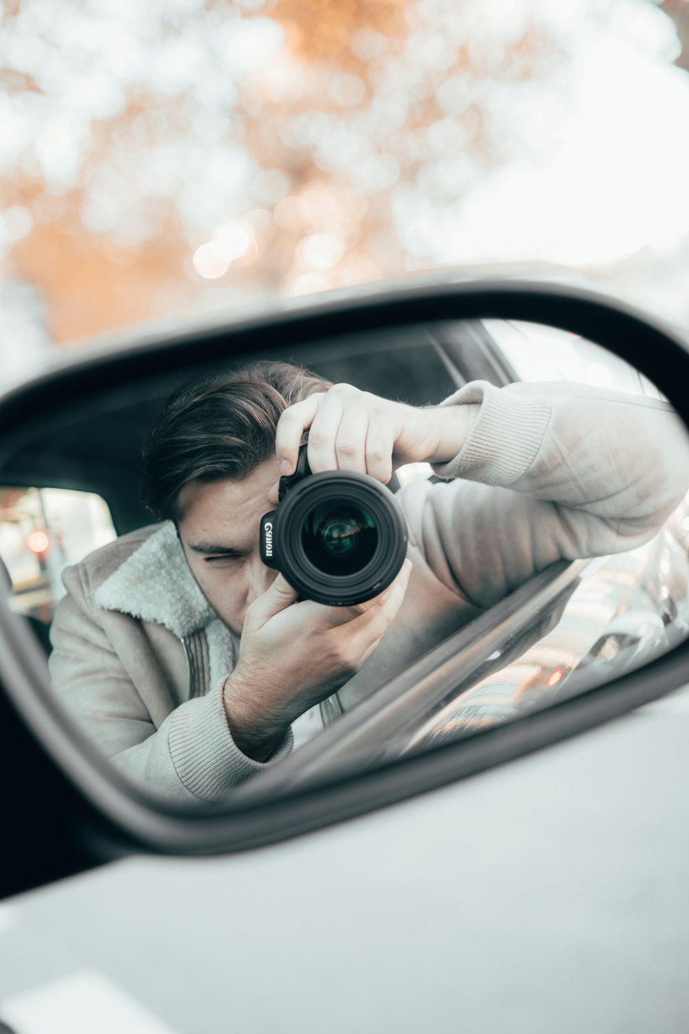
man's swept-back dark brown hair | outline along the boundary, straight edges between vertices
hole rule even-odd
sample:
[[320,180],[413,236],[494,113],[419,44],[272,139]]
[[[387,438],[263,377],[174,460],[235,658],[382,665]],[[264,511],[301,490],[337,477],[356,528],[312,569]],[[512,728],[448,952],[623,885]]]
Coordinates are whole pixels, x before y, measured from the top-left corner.
[[180,492],[189,482],[248,477],[274,454],[280,414],[330,387],[300,366],[264,361],[180,385],[144,445],[147,510],[177,523]]

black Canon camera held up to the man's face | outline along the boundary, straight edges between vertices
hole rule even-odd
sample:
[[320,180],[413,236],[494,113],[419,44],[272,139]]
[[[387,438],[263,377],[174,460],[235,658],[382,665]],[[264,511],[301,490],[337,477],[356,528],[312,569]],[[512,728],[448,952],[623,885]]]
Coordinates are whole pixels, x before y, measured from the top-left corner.
[[300,596],[350,607],[378,596],[407,553],[407,522],[393,493],[368,474],[311,474],[307,447],[280,479],[279,506],[260,521],[260,558]]

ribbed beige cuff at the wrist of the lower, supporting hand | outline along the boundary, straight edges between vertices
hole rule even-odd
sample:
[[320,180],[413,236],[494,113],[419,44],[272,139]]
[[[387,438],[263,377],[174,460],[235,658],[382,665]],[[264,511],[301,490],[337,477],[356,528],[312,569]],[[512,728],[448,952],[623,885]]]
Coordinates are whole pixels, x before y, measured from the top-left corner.
[[222,703],[225,680],[205,697],[190,700],[173,716],[167,741],[175,770],[201,800],[217,800],[250,776],[289,754],[289,729],[268,761],[254,761],[231,737]]

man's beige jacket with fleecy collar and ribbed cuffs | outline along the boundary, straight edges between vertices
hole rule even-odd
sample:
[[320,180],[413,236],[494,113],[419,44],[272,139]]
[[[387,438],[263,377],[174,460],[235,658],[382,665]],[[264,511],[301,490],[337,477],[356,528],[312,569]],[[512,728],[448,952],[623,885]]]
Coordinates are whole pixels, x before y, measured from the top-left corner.
[[[689,439],[663,402],[474,382],[443,404],[463,403],[480,408],[459,455],[436,467],[452,480],[399,493],[411,581],[378,649],[340,691],[348,705],[554,560],[649,541],[689,487]],[[123,536],[63,578],[55,690],[109,757],[178,801],[218,800],[263,767],[234,746],[222,707],[238,637],[191,576],[173,524]],[[293,735],[317,725],[314,709]]]

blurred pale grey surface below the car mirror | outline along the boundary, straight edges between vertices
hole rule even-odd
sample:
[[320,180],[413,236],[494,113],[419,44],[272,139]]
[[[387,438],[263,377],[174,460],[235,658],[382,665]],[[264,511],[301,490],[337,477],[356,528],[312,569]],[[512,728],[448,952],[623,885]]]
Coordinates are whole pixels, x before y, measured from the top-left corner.
[[689,689],[285,844],[33,891],[2,995],[88,968],[181,1034],[681,1034],[688,738]]

